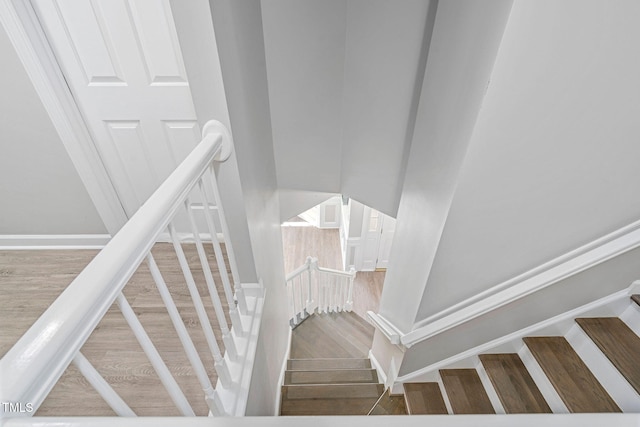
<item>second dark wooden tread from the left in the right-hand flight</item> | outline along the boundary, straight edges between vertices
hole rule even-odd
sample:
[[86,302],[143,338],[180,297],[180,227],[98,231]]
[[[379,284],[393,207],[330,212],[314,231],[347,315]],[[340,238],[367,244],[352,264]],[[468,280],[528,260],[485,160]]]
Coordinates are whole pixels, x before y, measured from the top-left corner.
[[442,369],[440,376],[454,414],[495,414],[475,369]]

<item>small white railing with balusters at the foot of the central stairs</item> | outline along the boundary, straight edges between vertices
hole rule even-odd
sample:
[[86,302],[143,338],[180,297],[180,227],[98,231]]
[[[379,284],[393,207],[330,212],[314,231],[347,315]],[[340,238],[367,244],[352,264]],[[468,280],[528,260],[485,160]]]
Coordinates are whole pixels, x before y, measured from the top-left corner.
[[295,327],[311,313],[332,313],[353,309],[353,281],[356,272],[318,266],[307,257],[303,265],[287,275],[289,323]]

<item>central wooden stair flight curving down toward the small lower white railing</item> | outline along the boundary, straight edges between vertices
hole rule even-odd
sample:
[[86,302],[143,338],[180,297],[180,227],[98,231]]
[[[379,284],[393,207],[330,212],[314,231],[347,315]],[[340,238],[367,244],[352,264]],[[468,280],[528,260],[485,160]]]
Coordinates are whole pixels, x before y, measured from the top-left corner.
[[374,329],[353,312],[313,314],[292,332],[281,415],[367,415],[384,392],[367,358]]

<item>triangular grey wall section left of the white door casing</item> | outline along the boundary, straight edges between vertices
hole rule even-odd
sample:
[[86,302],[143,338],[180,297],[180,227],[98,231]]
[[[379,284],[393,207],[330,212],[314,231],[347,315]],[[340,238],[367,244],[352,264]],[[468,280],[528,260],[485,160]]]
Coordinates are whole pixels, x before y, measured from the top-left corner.
[[0,234],[106,233],[4,28],[0,57]]

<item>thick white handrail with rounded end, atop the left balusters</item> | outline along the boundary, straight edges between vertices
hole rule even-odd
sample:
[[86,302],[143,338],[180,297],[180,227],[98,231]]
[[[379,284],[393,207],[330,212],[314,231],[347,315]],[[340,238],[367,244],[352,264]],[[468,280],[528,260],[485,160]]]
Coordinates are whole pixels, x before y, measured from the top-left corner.
[[[0,360],[0,401],[29,402],[37,410],[192,188],[231,144],[222,124],[206,126],[191,154]],[[210,400],[211,392],[206,394]],[[0,412],[0,417],[30,415]]]

